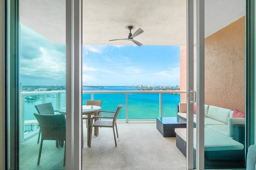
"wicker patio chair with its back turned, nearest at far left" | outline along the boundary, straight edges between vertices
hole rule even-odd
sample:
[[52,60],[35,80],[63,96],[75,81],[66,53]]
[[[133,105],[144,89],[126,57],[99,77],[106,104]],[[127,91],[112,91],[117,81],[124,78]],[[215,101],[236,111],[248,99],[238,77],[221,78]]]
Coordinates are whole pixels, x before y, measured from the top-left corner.
[[[37,164],[40,163],[40,157],[42,153],[42,145],[44,140],[66,141],[66,117],[64,114],[58,115],[42,115],[34,113],[41,132],[41,143],[38,155]],[[66,145],[64,149],[63,165],[66,164]]]

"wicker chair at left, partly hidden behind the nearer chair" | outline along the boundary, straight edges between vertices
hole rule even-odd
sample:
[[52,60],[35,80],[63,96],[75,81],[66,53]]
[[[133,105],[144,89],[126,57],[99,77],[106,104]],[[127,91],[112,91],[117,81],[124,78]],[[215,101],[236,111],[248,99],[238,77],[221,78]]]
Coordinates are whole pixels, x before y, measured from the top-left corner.
[[[38,104],[38,105],[35,105],[35,107],[38,114],[42,114],[42,115],[54,115],[54,112],[58,111],[53,109],[52,103]],[[39,143],[40,135],[41,135],[41,129],[39,129],[37,143]],[[56,147],[58,147],[58,141],[56,141]]]

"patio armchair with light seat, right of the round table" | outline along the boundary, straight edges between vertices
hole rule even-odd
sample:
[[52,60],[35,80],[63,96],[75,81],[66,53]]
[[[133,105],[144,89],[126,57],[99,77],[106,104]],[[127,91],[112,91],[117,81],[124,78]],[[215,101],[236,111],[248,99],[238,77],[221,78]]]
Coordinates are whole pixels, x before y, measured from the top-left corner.
[[[91,122],[91,131],[90,131],[90,142],[89,142],[89,147],[91,147],[91,141],[92,141],[92,128],[93,127],[112,127],[113,128],[113,133],[114,133],[114,139],[115,139],[115,144],[116,144],[116,136],[118,137],[118,131],[117,131],[117,126],[116,126],[116,119],[118,117],[118,114],[122,108],[122,104],[119,104],[118,107],[116,108],[116,111],[100,111],[100,112],[106,112],[106,113],[114,113],[113,117],[109,116],[94,116],[92,117],[92,120],[95,119],[96,121],[93,123]],[[112,121],[107,121],[107,120],[100,120],[98,118],[107,118],[107,119],[113,119]],[[92,124],[93,123],[93,124]],[[115,135],[115,126],[116,126],[116,135]],[[98,133],[97,135],[98,136]],[[116,144],[117,146],[117,144]]]

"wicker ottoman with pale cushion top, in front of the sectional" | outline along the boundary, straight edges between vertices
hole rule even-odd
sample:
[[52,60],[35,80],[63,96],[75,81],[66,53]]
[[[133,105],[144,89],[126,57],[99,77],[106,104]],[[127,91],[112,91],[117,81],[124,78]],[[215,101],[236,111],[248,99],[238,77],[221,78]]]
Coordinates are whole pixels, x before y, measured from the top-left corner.
[[[206,169],[244,168],[244,145],[232,138],[205,127],[204,164]],[[176,146],[186,157],[186,129],[175,129]],[[194,148],[196,135],[194,131]],[[226,141],[226,142],[225,142]],[[194,149],[194,168],[196,168],[196,150]]]

